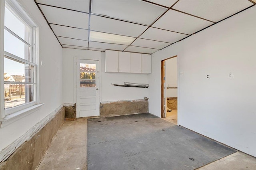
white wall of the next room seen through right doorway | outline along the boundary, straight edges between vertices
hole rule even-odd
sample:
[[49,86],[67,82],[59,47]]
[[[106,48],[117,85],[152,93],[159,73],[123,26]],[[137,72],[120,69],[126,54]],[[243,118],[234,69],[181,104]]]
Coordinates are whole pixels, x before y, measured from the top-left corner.
[[[165,61],[166,87],[178,87],[178,63],[177,57]],[[177,97],[178,89],[166,89],[166,97]]]

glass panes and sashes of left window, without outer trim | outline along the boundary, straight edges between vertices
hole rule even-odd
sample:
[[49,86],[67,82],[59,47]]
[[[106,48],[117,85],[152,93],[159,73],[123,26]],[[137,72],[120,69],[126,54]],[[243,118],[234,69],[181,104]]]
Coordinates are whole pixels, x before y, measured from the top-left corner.
[[34,101],[32,32],[6,4],[4,12],[4,108]]

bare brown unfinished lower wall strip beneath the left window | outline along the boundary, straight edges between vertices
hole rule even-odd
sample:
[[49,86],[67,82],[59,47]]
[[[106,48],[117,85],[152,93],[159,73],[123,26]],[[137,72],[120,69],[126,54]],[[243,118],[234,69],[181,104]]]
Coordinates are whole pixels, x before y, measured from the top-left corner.
[[63,107],[56,116],[24,142],[6,161],[0,164],[1,170],[34,170],[40,164],[52,139],[62,126],[65,117]]

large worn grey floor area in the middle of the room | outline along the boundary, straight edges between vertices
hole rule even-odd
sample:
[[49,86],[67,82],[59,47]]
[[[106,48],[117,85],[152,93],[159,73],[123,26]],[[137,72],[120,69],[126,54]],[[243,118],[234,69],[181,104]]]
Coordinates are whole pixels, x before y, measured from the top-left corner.
[[236,150],[152,114],[88,119],[88,169],[192,170]]

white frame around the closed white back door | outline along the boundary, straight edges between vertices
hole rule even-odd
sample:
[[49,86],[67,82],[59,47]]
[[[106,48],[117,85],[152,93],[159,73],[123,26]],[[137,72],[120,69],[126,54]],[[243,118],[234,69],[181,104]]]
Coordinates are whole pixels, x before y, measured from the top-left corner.
[[[73,60],[73,101],[76,103],[76,59],[84,59],[84,60],[94,60],[99,61],[99,102],[101,102],[101,93],[102,93],[102,85],[101,85],[101,57],[74,57]],[[74,103],[68,103],[68,104],[74,104]],[[100,117],[100,108],[99,108],[99,117]]]

